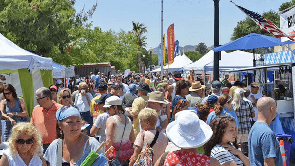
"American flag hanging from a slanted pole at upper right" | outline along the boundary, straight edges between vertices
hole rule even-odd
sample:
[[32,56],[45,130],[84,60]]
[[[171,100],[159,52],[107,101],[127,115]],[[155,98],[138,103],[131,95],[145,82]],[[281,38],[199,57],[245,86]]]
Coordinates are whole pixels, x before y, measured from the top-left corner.
[[[234,3],[235,4],[235,3]],[[280,28],[278,28],[275,24],[273,24],[271,21],[268,19],[262,17],[260,14],[257,14],[255,12],[249,11],[241,6],[238,6],[235,4],[242,12],[247,14],[262,30],[266,30],[272,35],[276,36],[277,38],[280,37],[287,37],[291,40],[294,40],[294,33],[291,34],[290,36],[287,35],[286,33],[282,32]]]

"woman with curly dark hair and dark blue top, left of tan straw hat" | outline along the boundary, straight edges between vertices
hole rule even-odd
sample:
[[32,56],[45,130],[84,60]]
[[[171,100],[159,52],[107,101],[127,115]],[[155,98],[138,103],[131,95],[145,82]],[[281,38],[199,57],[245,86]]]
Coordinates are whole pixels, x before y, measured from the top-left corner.
[[[173,100],[171,102],[171,110],[174,110],[174,107],[176,106],[176,104],[179,100],[186,99],[185,95],[187,95],[187,93],[189,92],[190,86],[191,86],[191,82],[186,81],[185,79],[179,80],[176,83],[175,97],[173,98]],[[172,113],[171,117],[174,117],[173,113]],[[173,121],[173,118],[171,118],[170,122],[172,122],[172,121]]]

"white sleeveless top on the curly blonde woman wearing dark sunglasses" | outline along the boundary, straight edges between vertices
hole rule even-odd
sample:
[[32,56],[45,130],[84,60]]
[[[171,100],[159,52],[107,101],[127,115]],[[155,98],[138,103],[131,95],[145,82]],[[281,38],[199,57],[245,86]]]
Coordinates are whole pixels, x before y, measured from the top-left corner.
[[[10,149],[6,149],[3,151],[3,154],[6,154],[7,156],[9,166],[27,166],[18,153],[12,156]],[[42,165],[42,164],[43,162],[40,159],[40,156],[35,154],[33,158],[31,159],[29,166]]]

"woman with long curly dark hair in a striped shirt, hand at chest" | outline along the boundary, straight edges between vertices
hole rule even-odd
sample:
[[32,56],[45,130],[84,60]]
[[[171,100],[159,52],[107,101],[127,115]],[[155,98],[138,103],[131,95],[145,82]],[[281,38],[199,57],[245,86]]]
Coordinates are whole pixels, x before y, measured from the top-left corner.
[[218,116],[209,125],[213,135],[204,145],[206,156],[216,158],[222,166],[250,166],[250,161],[237,146],[237,127],[230,116]]

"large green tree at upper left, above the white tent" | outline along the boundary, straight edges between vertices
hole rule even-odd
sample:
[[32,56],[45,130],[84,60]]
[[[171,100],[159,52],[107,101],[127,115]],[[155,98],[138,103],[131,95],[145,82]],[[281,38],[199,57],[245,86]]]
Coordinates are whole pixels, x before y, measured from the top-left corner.
[[[47,57],[66,53],[74,26],[82,25],[94,13],[76,14],[74,0],[0,0],[0,33],[21,48],[39,51]],[[54,51],[55,53],[52,53]],[[71,54],[75,56],[75,54]]]

